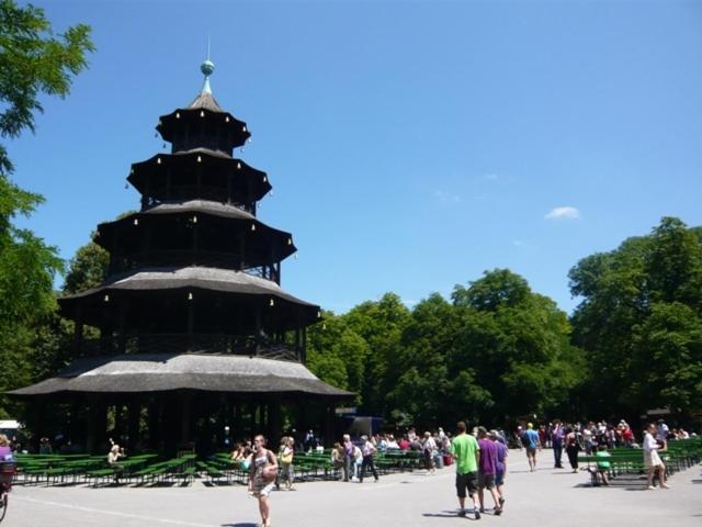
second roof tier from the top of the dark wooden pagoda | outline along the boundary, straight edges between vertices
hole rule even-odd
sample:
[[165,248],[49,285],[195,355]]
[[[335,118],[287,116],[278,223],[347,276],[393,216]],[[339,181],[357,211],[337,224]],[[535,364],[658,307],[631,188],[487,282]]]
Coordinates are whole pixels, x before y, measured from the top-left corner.
[[264,171],[208,148],[158,154],[135,162],[127,181],[140,194],[159,200],[207,198],[249,203],[272,189]]

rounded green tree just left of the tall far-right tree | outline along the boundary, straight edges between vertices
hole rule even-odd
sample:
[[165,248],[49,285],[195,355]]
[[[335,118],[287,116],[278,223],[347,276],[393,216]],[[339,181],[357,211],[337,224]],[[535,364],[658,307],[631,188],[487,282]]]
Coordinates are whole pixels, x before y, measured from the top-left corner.
[[452,369],[469,368],[484,392],[475,406],[485,421],[554,411],[569,397],[584,369],[569,343],[564,312],[506,269],[488,271],[469,288],[457,285],[453,301],[463,311]]

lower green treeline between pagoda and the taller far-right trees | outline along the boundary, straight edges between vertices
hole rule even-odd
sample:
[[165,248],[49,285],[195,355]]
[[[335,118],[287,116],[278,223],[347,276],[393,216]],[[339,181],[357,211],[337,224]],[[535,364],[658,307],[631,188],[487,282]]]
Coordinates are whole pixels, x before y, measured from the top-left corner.
[[569,333],[552,300],[498,269],[456,285],[451,301],[432,294],[410,311],[387,293],[327,313],[310,333],[309,367],[394,423],[503,423],[574,411],[569,393],[586,367]]

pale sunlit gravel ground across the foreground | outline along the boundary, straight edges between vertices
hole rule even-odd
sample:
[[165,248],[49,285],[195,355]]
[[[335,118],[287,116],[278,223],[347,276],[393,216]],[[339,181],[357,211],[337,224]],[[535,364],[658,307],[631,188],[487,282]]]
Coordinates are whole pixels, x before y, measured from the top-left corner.
[[[523,452],[510,451],[505,514],[488,508],[483,524],[528,522],[537,527],[625,526],[626,522],[676,527],[702,525],[702,466],[670,478],[671,490],[644,491],[639,479],[620,480],[612,487],[590,487],[587,472],[551,469],[551,452],[541,453],[536,472],[529,472]],[[486,496],[491,508],[491,498]],[[451,527],[475,522],[456,516],[453,470],[367,478],[363,484],[307,482],[295,492],[271,496],[273,527],[365,526]],[[102,487],[15,485],[3,525],[37,527],[183,526],[254,527],[256,500],[241,485],[188,487]]]

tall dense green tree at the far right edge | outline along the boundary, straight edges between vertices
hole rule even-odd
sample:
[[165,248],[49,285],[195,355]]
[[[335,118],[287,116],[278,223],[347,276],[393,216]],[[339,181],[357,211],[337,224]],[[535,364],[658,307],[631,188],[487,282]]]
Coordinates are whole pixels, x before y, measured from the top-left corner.
[[570,290],[582,298],[571,322],[588,355],[592,412],[700,407],[701,232],[664,217],[649,236],[570,270]]

